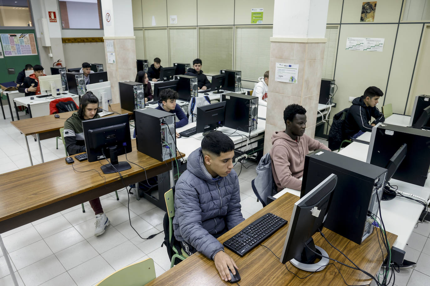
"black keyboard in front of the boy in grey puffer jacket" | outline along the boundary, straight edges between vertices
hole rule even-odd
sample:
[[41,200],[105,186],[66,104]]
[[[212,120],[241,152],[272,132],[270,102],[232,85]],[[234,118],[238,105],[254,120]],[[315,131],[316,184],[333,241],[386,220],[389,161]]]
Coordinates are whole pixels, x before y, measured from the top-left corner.
[[287,221],[283,218],[267,213],[224,242],[224,246],[237,255],[244,256],[286,224]]

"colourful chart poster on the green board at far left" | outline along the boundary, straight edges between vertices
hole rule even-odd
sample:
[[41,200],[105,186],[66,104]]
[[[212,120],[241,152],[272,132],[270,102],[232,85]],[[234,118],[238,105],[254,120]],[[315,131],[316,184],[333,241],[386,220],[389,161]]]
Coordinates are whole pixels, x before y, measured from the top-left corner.
[[6,57],[37,54],[34,34],[0,34],[0,39]]

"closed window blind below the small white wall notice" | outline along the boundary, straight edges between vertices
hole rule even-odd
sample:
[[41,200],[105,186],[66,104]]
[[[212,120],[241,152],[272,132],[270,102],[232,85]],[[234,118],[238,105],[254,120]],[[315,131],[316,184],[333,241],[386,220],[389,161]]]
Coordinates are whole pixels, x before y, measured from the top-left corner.
[[173,63],[193,64],[197,57],[197,29],[170,28],[169,29],[170,65]]

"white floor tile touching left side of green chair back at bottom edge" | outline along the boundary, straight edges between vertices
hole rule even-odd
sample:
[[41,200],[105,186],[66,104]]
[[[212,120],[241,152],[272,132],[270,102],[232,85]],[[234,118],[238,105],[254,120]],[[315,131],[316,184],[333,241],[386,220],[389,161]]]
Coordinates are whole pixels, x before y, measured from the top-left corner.
[[78,286],[91,286],[114,272],[100,255],[68,271]]

